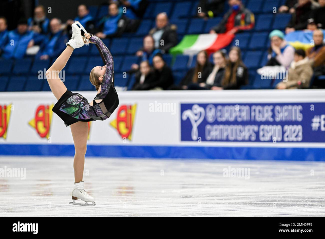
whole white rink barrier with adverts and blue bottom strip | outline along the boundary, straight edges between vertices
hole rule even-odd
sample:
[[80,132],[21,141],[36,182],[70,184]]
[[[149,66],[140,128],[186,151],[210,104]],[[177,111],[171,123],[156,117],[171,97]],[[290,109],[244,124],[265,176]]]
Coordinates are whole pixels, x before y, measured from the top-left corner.
[[[325,161],[325,90],[118,94],[110,118],[88,125],[87,157]],[[55,103],[51,92],[0,93],[0,158],[73,156]]]

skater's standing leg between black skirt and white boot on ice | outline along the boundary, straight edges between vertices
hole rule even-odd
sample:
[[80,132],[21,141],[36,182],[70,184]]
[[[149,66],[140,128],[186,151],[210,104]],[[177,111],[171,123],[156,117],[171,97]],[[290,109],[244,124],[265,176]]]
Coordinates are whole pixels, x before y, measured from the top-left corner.
[[87,151],[88,122],[78,121],[70,126],[74,142],[74,181],[83,180],[85,154]]

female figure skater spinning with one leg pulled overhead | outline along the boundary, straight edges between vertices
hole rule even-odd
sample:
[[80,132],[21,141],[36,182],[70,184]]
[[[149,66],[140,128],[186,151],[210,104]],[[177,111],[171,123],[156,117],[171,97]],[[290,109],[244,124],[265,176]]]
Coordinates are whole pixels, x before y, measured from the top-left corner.
[[[83,26],[78,23],[81,29]],[[84,30],[85,31],[85,30]],[[59,78],[59,72],[64,68],[73,50],[90,43],[96,44],[105,66],[95,66],[90,72],[90,82],[96,87],[97,95],[90,103],[78,93],[69,91]],[[70,204],[82,206],[95,206],[94,198],[84,190],[84,164],[87,148],[88,121],[105,120],[113,113],[119,104],[118,96],[114,88],[114,64],[113,57],[104,43],[92,34],[85,31],[85,37],[76,23],[72,24],[72,38],[66,44],[66,49],[61,53],[53,65],[46,71],[47,82],[57,98],[58,102],[52,111],[59,115],[66,126],[70,125],[74,142],[75,154],[73,161],[74,188]],[[77,199],[85,202],[76,203]],[[92,202],[92,204],[88,204]]]

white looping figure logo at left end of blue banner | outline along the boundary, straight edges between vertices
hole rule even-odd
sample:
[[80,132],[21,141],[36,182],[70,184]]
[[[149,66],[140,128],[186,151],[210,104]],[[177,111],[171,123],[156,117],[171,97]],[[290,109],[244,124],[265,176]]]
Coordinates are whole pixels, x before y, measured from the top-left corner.
[[205,111],[203,107],[195,104],[192,106],[192,110],[186,110],[182,113],[182,120],[187,120],[189,118],[192,124],[191,137],[192,140],[197,140],[199,137],[198,126],[201,124],[205,116]]

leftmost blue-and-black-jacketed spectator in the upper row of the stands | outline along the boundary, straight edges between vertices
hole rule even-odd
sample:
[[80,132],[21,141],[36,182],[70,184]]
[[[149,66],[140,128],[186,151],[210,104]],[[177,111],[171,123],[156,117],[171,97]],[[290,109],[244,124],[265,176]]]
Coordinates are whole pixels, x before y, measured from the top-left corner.
[[29,30],[35,33],[47,34],[49,22],[44,7],[39,5],[34,9],[34,17],[28,19]]

